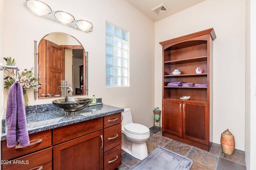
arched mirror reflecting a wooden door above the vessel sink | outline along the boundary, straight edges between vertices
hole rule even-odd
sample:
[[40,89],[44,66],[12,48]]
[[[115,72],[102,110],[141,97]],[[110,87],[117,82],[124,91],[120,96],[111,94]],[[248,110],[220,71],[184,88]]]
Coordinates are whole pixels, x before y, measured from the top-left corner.
[[66,33],[50,33],[38,44],[38,98],[61,96],[61,81],[73,89],[68,96],[86,94],[86,52]]

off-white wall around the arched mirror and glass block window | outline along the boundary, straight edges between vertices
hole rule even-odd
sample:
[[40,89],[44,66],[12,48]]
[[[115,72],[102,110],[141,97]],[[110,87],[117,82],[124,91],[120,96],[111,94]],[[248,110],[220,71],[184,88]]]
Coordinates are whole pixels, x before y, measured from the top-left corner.
[[[34,40],[44,35],[64,32],[76,37],[89,52],[89,96],[95,94],[104,104],[132,108],[134,122],[153,125],[154,108],[154,22],[125,0],[43,0],[52,10],[63,10],[77,20],[93,23],[85,33],[60,23],[36,16],[21,0],[4,0],[6,20],[4,56],[14,57],[21,68],[34,66]],[[106,88],[105,22],[130,31],[130,87]],[[7,91],[6,91],[7,93]],[[29,105],[51,103],[53,99],[34,100],[28,91]]]

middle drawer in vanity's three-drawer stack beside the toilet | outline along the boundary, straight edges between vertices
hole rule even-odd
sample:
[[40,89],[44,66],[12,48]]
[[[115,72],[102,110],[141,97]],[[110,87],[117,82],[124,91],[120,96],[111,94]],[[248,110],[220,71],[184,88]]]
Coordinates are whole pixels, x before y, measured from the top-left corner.
[[104,152],[121,144],[121,133],[121,124],[104,129]]

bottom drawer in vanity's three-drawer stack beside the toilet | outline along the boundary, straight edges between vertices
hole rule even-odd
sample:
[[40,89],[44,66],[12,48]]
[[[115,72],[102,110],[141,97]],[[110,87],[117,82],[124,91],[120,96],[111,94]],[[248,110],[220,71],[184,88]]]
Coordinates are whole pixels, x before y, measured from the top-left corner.
[[117,147],[104,153],[104,170],[113,170],[122,164],[122,147]]

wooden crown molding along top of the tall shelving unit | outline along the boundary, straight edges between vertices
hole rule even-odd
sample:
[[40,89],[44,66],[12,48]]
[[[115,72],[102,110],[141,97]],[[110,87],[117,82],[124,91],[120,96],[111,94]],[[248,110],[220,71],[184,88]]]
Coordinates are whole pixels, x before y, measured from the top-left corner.
[[177,41],[190,39],[190,38],[193,38],[193,37],[198,37],[198,36],[206,35],[206,34],[210,34],[213,41],[214,41],[214,39],[216,39],[216,34],[214,32],[214,29],[210,28],[210,29],[206,29],[206,30],[199,31],[199,32],[196,32],[196,33],[192,33],[192,34],[184,35],[184,36],[181,36],[181,37],[177,37],[177,38],[174,38],[174,39],[169,39],[167,41],[162,41],[159,44],[166,45],[166,44],[175,43]]

